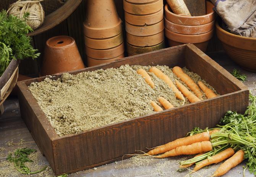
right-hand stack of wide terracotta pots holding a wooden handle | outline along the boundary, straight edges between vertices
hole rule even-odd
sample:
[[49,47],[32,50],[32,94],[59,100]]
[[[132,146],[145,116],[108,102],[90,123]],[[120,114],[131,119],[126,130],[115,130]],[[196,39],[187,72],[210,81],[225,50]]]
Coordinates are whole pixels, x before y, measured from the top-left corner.
[[206,1],[206,15],[186,16],[172,13],[165,5],[165,36],[169,46],[193,43],[202,51],[206,51],[209,40],[214,34],[214,5]]

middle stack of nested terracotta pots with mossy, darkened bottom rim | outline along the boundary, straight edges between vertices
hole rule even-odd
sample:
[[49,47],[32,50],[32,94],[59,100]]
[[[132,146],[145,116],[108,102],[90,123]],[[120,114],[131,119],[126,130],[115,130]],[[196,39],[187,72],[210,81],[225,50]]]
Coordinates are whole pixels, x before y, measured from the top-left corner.
[[164,48],[163,0],[123,0],[129,56]]

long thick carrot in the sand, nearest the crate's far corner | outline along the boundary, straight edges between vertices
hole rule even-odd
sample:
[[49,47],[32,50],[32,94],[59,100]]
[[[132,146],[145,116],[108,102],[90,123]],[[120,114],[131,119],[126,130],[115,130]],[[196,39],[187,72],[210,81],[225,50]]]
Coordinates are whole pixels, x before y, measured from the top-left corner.
[[201,93],[199,87],[186,73],[183,72],[180,67],[173,67],[172,72],[175,73],[175,75],[177,75],[177,77],[180,78],[180,80],[183,81],[188,86],[188,88],[190,88],[196,94],[198,98],[202,99],[203,94]]

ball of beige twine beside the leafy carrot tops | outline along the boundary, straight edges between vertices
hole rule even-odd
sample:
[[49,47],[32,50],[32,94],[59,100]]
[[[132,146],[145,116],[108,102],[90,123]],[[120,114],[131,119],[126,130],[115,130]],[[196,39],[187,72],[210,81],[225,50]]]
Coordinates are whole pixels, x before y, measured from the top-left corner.
[[44,22],[44,9],[41,5],[43,0],[18,0],[10,5],[8,14],[23,18],[25,13],[29,13],[26,23],[34,30],[41,26]]

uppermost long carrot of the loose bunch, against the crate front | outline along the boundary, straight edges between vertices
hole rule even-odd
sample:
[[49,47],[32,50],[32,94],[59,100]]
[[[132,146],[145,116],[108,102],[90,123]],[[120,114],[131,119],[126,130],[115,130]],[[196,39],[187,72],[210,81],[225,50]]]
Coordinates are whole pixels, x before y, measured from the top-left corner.
[[147,154],[148,155],[156,155],[156,154],[160,154],[160,153],[165,153],[167,151],[170,151],[172,149],[175,149],[175,148],[183,146],[183,145],[189,145],[189,144],[193,144],[196,142],[209,141],[209,140],[210,140],[209,133],[203,132],[203,133],[195,134],[193,136],[176,139],[172,142],[169,142],[167,144],[161,145],[157,148],[150,150]]

